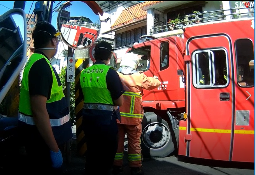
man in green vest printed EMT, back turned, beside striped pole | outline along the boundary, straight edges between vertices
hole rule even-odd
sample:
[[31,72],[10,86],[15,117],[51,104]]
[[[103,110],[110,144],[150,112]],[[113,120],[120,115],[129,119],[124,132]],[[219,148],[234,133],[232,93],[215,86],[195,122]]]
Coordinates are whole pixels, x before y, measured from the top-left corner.
[[80,75],[84,98],[82,128],[87,146],[85,174],[111,175],[117,151],[117,106],[123,105],[125,91],[116,71],[107,65],[111,54],[110,43],[97,43],[96,62]]

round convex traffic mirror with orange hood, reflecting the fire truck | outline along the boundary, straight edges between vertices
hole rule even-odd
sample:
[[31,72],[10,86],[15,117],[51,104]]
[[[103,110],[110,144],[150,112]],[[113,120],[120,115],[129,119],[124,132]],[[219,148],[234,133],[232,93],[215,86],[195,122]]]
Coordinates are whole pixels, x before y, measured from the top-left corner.
[[100,34],[100,15],[103,15],[95,1],[68,1],[56,11],[57,28],[64,43],[73,49],[93,45]]

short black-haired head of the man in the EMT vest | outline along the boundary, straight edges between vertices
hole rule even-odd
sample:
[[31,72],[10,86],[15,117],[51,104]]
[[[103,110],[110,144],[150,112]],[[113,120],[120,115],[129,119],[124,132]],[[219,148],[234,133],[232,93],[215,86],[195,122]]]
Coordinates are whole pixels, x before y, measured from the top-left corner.
[[108,60],[113,48],[112,45],[106,41],[102,41],[95,45],[95,59]]

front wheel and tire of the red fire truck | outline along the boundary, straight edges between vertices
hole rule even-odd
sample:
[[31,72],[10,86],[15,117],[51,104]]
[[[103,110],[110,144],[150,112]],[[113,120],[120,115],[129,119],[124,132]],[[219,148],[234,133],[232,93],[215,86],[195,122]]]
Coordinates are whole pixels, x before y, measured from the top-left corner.
[[140,146],[142,155],[147,158],[162,158],[174,152],[175,147],[167,121],[153,112],[144,113]]

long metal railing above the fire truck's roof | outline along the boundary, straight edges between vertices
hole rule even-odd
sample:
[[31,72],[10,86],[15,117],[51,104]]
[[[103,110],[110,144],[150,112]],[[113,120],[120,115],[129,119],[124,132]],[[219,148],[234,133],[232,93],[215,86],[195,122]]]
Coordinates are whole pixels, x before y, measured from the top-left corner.
[[[195,25],[195,24],[200,24],[200,23],[208,23],[210,21],[223,21],[223,20],[226,20],[227,18],[238,19],[238,18],[242,18],[243,14],[246,16],[251,15],[251,17],[254,17],[254,11],[240,12],[240,9],[247,9],[247,8],[216,10],[216,11],[186,15],[184,17],[184,21],[181,21],[178,23],[167,24],[167,25],[163,25],[163,26],[158,26],[158,27],[154,27],[154,28],[150,29],[149,35],[153,35],[155,33],[167,32],[167,31],[171,31],[171,30],[175,30],[175,29],[182,29],[183,26]],[[238,11],[238,12],[232,13],[232,14],[224,14],[225,11]],[[219,15],[217,13],[220,13],[221,15]],[[207,17],[195,18],[195,16],[201,16],[201,15],[207,16]],[[193,18],[193,19],[191,19],[191,18]]]

